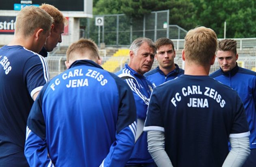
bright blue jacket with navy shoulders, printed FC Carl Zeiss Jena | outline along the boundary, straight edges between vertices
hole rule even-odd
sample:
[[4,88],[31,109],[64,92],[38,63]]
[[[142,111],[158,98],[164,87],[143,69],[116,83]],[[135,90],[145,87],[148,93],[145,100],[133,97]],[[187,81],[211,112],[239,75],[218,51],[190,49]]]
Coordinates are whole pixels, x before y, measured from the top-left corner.
[[131,89],[89,60],[75,61],[41,90],[28,117],[30,166],[124,166],[136,136]]

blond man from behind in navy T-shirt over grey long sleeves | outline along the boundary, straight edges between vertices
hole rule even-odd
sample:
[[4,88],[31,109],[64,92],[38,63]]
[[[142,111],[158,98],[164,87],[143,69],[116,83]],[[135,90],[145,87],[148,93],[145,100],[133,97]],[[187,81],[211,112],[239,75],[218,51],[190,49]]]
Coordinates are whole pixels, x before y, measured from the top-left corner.
[[158,167],[241,167],[250,154],[243,103],[208,76],[216,48],[212,29],[191,29],[182,51],[184,75],[153,90],[144,131]]

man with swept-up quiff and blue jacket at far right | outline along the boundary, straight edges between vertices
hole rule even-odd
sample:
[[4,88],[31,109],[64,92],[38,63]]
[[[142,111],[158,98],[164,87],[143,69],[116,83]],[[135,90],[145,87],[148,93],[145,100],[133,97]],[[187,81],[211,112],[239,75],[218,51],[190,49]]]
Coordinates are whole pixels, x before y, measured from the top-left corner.
[[237,65],[237,41],[221,40],[217,47],[220,69],[210,75],[237,91],[243,105],[250,129],[251,154],[244,167],[256,167],[256,73]]

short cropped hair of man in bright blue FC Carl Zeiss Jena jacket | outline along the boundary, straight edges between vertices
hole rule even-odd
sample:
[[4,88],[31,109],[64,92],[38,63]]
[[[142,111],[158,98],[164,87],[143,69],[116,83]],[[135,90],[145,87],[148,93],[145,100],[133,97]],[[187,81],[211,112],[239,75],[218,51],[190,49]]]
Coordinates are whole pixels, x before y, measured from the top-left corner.
[[73,53],[78,53],[80,56],[86,56],[93,61],[99,59],[99,49],[98,46],[90,39],[81,38],[77,42],[74,42],[67,49],[67,62],[70,59],[74,59],[75,55]]

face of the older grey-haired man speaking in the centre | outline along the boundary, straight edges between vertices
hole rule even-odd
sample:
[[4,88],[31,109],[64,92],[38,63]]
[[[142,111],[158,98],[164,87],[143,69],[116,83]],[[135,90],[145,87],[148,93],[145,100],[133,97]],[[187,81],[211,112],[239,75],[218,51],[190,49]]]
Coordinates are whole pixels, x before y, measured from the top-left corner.
[[144,42],[137,51],[137,54],[130,51],[131,62],[129,66],[140,75],[148,72],[154,62],[155,53],[153,48]]

